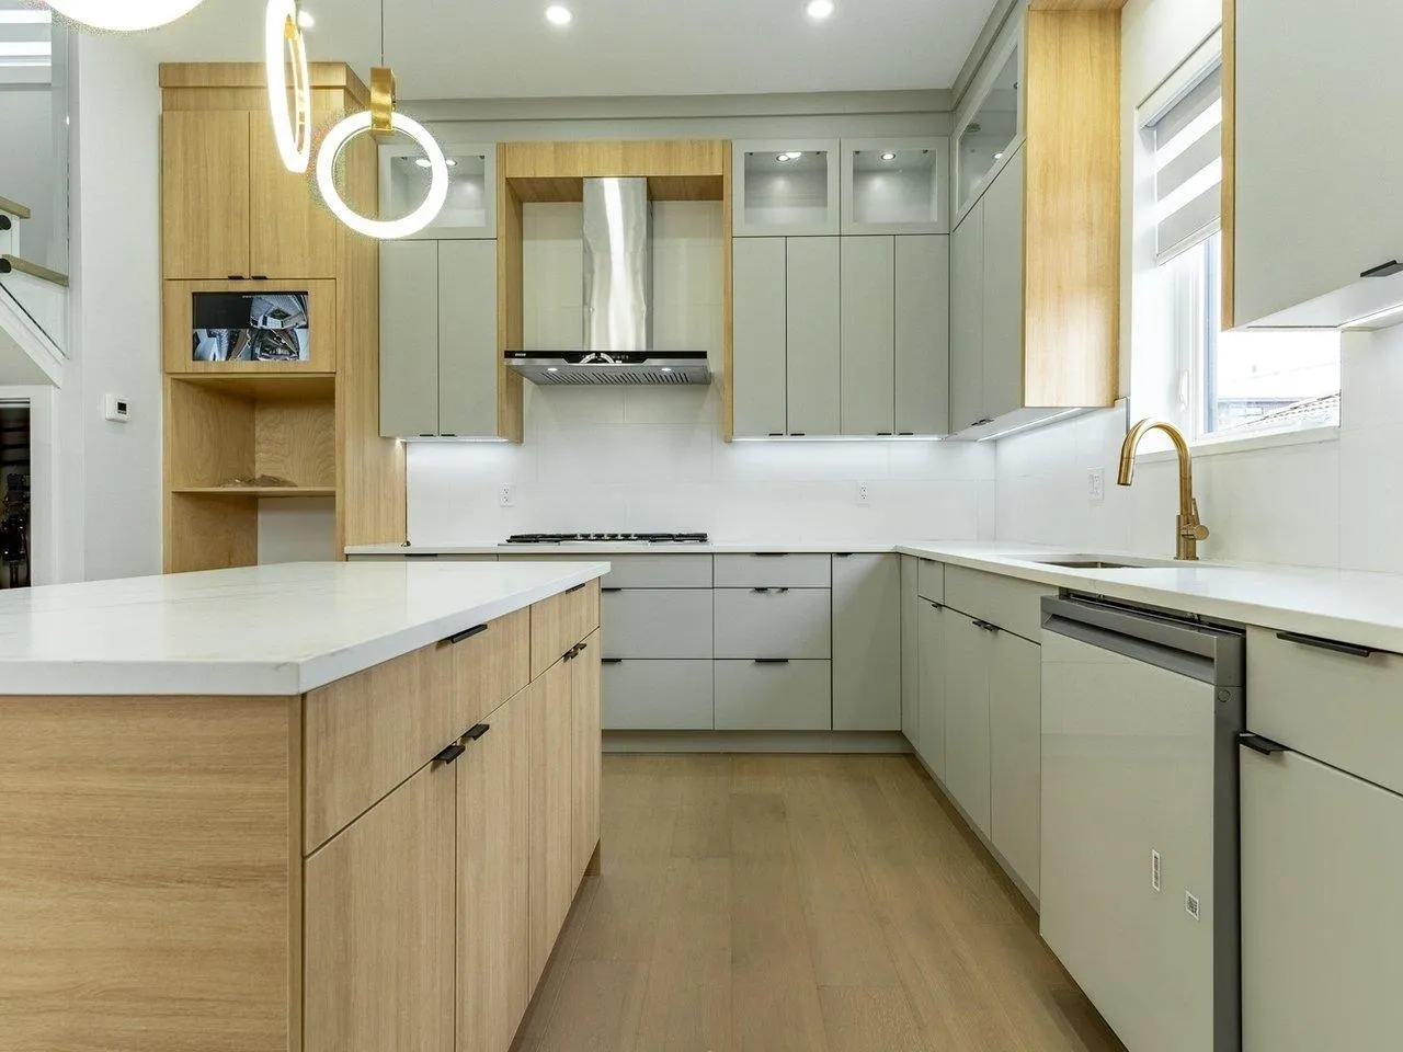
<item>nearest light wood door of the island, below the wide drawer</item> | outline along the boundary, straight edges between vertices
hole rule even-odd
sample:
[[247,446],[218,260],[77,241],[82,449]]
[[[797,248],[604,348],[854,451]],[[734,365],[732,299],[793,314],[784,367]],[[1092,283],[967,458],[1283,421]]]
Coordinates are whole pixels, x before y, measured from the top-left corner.
[[453,1052],[456,804],[435,762],[307,858],[304,1052]]

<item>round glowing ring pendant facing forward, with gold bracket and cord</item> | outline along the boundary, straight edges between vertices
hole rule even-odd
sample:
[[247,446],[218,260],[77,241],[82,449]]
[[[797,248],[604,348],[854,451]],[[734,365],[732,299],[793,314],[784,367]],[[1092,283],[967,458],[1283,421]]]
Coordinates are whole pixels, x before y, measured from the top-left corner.
[[[417,209],[401,219],[370,219],[362,216],[342,199],[337,189],[335,168],[341,150],[355,137],[370,132],[410,136],[424,150],[429,161],[429,192]],[[341,121],[321,140],[317,151],[317,187],[333,215],[356,233],[382,241],[418,233],[443,210],[448,201],[448,159],[438,142],[418,121],[394,109],[394,72],[384,65],[384,0],[380,0],[380,65],[370,70],[370,109]]]

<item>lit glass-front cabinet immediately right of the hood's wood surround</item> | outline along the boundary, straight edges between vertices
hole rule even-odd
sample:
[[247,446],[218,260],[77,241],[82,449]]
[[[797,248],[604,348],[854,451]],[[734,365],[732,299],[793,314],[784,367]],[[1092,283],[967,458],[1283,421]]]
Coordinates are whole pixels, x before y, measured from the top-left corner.
[[731,149],[737,237],[838,233],[836,139],[737,142]]

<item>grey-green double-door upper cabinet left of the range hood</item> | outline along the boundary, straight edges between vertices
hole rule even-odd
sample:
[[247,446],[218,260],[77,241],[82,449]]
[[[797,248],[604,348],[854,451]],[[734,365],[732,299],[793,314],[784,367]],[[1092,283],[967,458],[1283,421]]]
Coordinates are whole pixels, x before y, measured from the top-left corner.
[[380,433],[497,436],[497,241],[380,245]]

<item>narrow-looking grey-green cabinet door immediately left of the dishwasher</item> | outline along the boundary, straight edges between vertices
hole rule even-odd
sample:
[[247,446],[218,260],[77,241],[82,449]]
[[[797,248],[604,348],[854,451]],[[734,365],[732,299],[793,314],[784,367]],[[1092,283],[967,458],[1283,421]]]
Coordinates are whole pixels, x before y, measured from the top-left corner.
[[993,637],[989,663],[989,826],[1003,860],[1038,893],[1042,649],[1012,633]]

